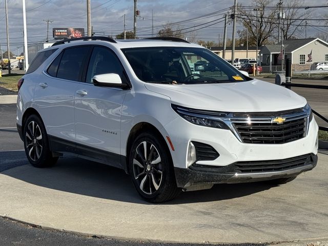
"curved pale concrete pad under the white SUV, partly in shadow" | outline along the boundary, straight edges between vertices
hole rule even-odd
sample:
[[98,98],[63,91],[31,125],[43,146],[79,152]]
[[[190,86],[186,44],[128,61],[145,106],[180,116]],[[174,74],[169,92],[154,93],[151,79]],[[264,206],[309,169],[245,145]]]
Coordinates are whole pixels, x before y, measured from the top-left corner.
[[0,173],[0,216],[143,241],[327,242],[327,162],[322,152],[314,170],[282,186],[217,185],[151,204],[140,199],[123,171],[66,157],[49,169],[24,165]]

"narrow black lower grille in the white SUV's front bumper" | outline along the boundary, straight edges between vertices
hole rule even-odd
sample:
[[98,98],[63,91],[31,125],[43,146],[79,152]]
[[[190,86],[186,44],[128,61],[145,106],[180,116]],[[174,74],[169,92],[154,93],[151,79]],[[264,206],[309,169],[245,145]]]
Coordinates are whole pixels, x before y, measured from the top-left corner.
[[313,163],[313,158],[311,154],[307,154],[282,160],[239,161],[234,163],[234,169],[241,173],[277,172],[311,163]]

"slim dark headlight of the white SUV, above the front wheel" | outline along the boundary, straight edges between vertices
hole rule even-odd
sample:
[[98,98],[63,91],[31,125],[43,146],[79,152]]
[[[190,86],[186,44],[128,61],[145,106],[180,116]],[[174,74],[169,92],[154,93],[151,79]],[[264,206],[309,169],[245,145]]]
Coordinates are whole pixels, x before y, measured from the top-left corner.
[[172,104],[172,108],[182,118],[186,119],[192,124],[203,126],[203,127],[213,127],[213,128],[229,130],[228,126],[224,124],[223,121],[220,120],[220,118],[228,115],[227,112],[190,109],[173,104]]

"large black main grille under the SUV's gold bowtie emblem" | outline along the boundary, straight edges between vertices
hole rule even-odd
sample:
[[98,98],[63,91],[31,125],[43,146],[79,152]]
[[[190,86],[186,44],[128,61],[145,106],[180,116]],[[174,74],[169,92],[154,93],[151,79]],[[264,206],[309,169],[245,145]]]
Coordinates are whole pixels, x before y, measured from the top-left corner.
[[283,122],[234,122],[236,131],[247,144],[285,144],[305,136],[306,118]]

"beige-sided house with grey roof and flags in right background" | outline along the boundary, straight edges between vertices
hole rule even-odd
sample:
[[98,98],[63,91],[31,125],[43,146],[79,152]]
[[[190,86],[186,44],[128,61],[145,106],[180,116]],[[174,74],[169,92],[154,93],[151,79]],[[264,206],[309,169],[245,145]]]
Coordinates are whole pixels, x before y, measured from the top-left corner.
[[[292,70],[309,70],[313,63],[328,61],[328,43],[320,38],[303,38],[283,40],[284,61],[292,60]],[[278,59],[281,51],[281,43],[277,45],[265,45],[259,52],[261,65],[269,66],[269,71],[281,71],[282,60]],[[312,55],[309,61],[308,55]]]

